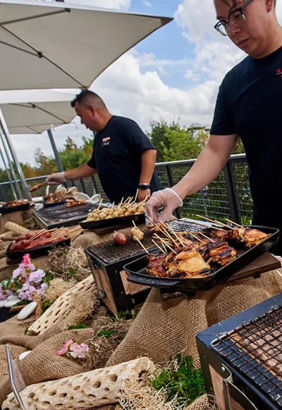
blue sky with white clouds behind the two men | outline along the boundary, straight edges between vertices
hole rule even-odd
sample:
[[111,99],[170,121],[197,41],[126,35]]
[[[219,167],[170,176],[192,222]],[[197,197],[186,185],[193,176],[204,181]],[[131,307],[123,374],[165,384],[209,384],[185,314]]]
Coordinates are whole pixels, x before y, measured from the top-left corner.
[[[137,13],[173,17],[174,20],[140,42],[112,64],[92,84],[110,112],[135,119],[145,131],[152,119],[179,119],[211,124],[214,103],[226,72],[245,57],[227,37],[214,30],[212,0],[65,0]],[[276,10],[282,22],[282,1]],[[67,136],[80,144],[90,132],[75,124],[54,129],[61,148]],[[35,148],[51,155],[45,133],[13,135],[21,162],[34,163]],[[1,166],[1,165],[0,165]]]

